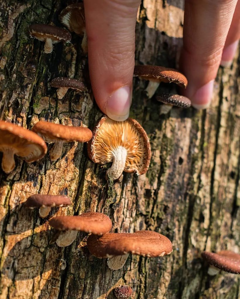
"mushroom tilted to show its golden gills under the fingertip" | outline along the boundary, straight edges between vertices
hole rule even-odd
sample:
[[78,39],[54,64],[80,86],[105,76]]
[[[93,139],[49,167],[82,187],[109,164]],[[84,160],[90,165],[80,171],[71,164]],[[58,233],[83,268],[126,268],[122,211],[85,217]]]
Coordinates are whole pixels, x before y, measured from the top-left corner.
[[107,171],[111,180],[118,179],[123,171],[146,173],[151,158],[147,133],[136,120],[118,122],[106,115],[96,124],[87,152],[94,163],[113,162]]

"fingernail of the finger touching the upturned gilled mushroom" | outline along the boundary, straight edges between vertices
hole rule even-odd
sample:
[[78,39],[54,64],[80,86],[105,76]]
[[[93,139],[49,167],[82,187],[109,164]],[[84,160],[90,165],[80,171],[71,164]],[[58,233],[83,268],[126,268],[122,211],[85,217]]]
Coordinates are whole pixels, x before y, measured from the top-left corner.
[[129,117],[131,92],[128,86],[117,89],[107,101],[107,115],[117,121],[126,120]]

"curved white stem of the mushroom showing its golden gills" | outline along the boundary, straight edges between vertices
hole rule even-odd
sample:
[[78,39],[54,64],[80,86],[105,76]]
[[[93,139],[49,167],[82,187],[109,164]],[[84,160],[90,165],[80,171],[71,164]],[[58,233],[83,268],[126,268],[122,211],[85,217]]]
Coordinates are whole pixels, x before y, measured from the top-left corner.
[[127,150],[125,147],[117,147],[112,152],[113,163],[112,166],[107,171],[107,176],[112,180],[118,179],[125,168]]

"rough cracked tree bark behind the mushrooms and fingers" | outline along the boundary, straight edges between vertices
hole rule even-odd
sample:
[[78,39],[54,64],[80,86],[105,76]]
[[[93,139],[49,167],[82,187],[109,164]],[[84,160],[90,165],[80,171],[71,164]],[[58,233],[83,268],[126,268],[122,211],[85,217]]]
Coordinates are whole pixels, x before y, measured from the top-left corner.
[[[60,25],[65,1],[0,2],[0,117],[32,128],[40,119],[91,129],[101,112],[93,102],[87,58],[81,39],[54,45],[31,39],[32,23]],[[183,1],[143,0],[136,25],[136,63],[175,67],[182,43]],[[61,26],[62,27],[62,26]],[[84,78],[88,93],[68,91],[63,100],[49,82],[54,77]],[[239,60],[219,69],[214,97],[207,111],[172,109],[159,116],[160,103],[147,100],[146,81],[134,80],[131,117],[146,129],[152,160],[146,175],[124,173],[112,191],[105,168],[87,157],[85,144],[64,144],[62,158],[26,164],[16,158],[15,170],[0,174],[0,298],[114,298],[112,289],[127,283],[132,298],[234,299],[239,277],[207,275],[203,250],[230,249],[239,244]],[[162,84],[161,91],[175,91]],[[51,145],[49,145],[49,149]],[[1,157],[0,157],[1,158]],[[70,208],[53,208],[40,219],[24,206],[34,193],[65,194]],[[53,215],[98,211],[109,215],[113,232],[151,229],[173,242],[163,258],[130,256],[123,269],[111,271],[106,260],[91,256],[86,234],[67,248],[54,243]]]

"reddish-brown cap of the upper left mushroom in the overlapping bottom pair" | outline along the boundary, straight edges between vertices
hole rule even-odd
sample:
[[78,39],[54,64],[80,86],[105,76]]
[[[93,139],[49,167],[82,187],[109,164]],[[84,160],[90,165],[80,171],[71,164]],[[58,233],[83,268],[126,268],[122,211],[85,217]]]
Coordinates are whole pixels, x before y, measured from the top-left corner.
[[102,213],[88,212],[79,216],[57,216],[49,224],[60,231],[84,231],[102,235],[112,228],[111,219]]

